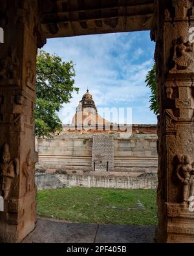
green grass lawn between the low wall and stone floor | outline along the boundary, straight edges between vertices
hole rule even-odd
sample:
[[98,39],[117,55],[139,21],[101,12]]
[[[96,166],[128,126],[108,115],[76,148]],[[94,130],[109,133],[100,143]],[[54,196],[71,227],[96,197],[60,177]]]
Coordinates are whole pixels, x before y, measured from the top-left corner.
[[[140,209],[138,200],[146,207]],[[157,223],[156,191],[72,187],[38,191],[38,215],[67,222],[151,225]]]

